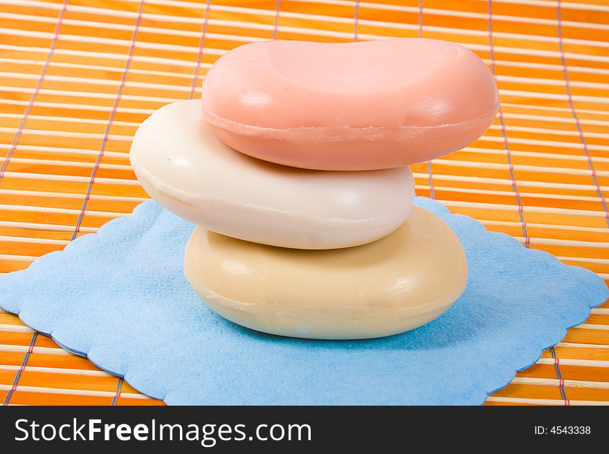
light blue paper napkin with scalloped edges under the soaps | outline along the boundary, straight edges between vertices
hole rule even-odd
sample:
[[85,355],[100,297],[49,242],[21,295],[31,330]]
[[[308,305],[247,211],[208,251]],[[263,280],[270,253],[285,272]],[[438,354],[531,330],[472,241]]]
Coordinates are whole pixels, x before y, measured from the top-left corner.
[[457,233],[469,282],[405,334],[308,341],[222,319],[183,277],[192,225],[152,201],[2,276],[0,305],[167,404],[482,404],[608,297],[592,272],[416,204]]

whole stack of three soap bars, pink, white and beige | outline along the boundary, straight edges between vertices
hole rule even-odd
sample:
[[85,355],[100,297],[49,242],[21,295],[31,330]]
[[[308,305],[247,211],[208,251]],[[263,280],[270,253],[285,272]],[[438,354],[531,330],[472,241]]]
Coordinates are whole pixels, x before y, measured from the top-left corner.
[[185,276],[215,312],[284,336],[380,337],[464,291],[461,244],[412,206],[407,166],[473,142],[498,105],[484,63],[445,41],[260,42],[216,62],[202,103],[145,120],[129,157],[199,226]]

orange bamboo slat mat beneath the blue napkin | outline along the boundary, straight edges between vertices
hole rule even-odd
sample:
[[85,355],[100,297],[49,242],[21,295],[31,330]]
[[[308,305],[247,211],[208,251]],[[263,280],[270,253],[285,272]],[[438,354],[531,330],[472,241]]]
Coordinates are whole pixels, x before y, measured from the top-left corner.
[[[0,272],[145,200],[127,159],[138,124],[200,97],[227,50],[417,36],[478,53],[502,101],[478,142],[412,167],[417,193],[607,281],[608,0],[0,0]],[[162,404],[7,313],[0,399]],[[487,404],[609,404],[609,305]]]

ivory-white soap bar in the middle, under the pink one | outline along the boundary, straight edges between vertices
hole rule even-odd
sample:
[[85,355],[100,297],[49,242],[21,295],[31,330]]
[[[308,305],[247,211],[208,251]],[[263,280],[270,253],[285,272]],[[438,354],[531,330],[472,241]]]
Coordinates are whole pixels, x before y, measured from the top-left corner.
[[201,120],[200,101],[150,115],[129,160],[147,193],[178,216],[282,247],[333,249],[383,238],[406,220],[415,193],[407,167],[311,171],[239,153]]

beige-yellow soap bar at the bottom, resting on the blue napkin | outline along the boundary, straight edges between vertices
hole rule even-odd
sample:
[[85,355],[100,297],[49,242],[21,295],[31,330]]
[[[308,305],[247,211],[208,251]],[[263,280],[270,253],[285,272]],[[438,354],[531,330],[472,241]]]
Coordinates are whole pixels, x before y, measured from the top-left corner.
[[366,339],[412,330],[446,311],[465,289],[461,243],[419,207],[394,233],[327,251],[248,243],[197,228],[185,276],[226,319],[311,339]]

